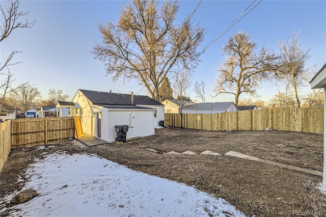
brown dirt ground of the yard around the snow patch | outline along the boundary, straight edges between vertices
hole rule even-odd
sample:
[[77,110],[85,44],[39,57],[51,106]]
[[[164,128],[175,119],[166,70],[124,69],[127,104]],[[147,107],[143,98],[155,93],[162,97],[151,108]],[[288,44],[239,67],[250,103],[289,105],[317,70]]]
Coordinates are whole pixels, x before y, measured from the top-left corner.
[[[204,131],[164,128],[155,135],[123,144],[88,147],[74,140],[11,150],[0,173],[0,198],[20,191],[28,177],[24,171],[36,158],[59,150],[92,153],[148,174],[183,182],[222,197],[248,216],[292,216],[326,213],[326,197],[318,189],[322,177],[267,165],[262,162],[224,156],[236,151],[318,171],[323,169],[323,135],[288,131]],[[151,148],[160,152],[146,150]],[[213,155],[174,155],[170,151]],[[67,165],[68,166],[68,165]],[[87,172],[87,168],[85,168]],[[0,202],[1,205],[1,202]],[[14,209],[14,207],[11,207]],[[319,211],[319,212],[318,212]],[[2,213],[6,216],[6,213]]]

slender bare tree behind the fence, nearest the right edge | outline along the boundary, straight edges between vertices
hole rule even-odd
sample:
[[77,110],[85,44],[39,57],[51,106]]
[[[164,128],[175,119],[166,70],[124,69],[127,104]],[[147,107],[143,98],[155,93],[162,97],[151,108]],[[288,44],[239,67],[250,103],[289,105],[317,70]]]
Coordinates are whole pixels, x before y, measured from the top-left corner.
[[307,60],[310,58],[310,49],[303,50],[298,42],[300,33],[288,37],[287,41],[279,44],[280,63],[278,79],[287,88],[292,88],[296,99],[297,107],[300,107],[298,88],[308,86],[306,77],[309,71],[305,68]]

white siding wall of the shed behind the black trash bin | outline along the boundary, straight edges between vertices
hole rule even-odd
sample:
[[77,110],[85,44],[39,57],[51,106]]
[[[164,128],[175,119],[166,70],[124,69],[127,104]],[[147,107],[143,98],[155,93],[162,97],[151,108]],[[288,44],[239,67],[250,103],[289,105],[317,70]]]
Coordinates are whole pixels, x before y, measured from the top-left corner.
[[[130,114],[134,114],[133,127],[130,127]],[[146,137],[155,133],[152,111],[108,111],[107,142],[114,142],[117,137],[115,125],[128,125],[126,139]]]

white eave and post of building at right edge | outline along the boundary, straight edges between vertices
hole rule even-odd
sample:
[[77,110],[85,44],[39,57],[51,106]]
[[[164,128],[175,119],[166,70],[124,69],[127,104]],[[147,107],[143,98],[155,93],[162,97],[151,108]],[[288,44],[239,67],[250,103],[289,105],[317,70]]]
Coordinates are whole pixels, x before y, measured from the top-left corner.
[[311,89],[323,88],[324,90],[324,123],[323,123],[323,134],[324,134],[324,169],[322,174],[322,186],[321,188],[326,191],[326,64],[324,64],[321,69],[316,73],[316,75],[310,81]]

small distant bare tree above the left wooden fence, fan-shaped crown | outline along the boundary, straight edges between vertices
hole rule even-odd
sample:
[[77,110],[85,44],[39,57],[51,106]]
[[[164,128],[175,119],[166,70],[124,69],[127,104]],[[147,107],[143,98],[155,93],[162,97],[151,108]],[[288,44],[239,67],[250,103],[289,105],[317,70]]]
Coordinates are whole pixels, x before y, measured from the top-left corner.
[[10,96],[19,102],[24,112],[41,96],[41,92],[32,86],[30,84],[20,85],[18,88],[11,90],[10,93]]

